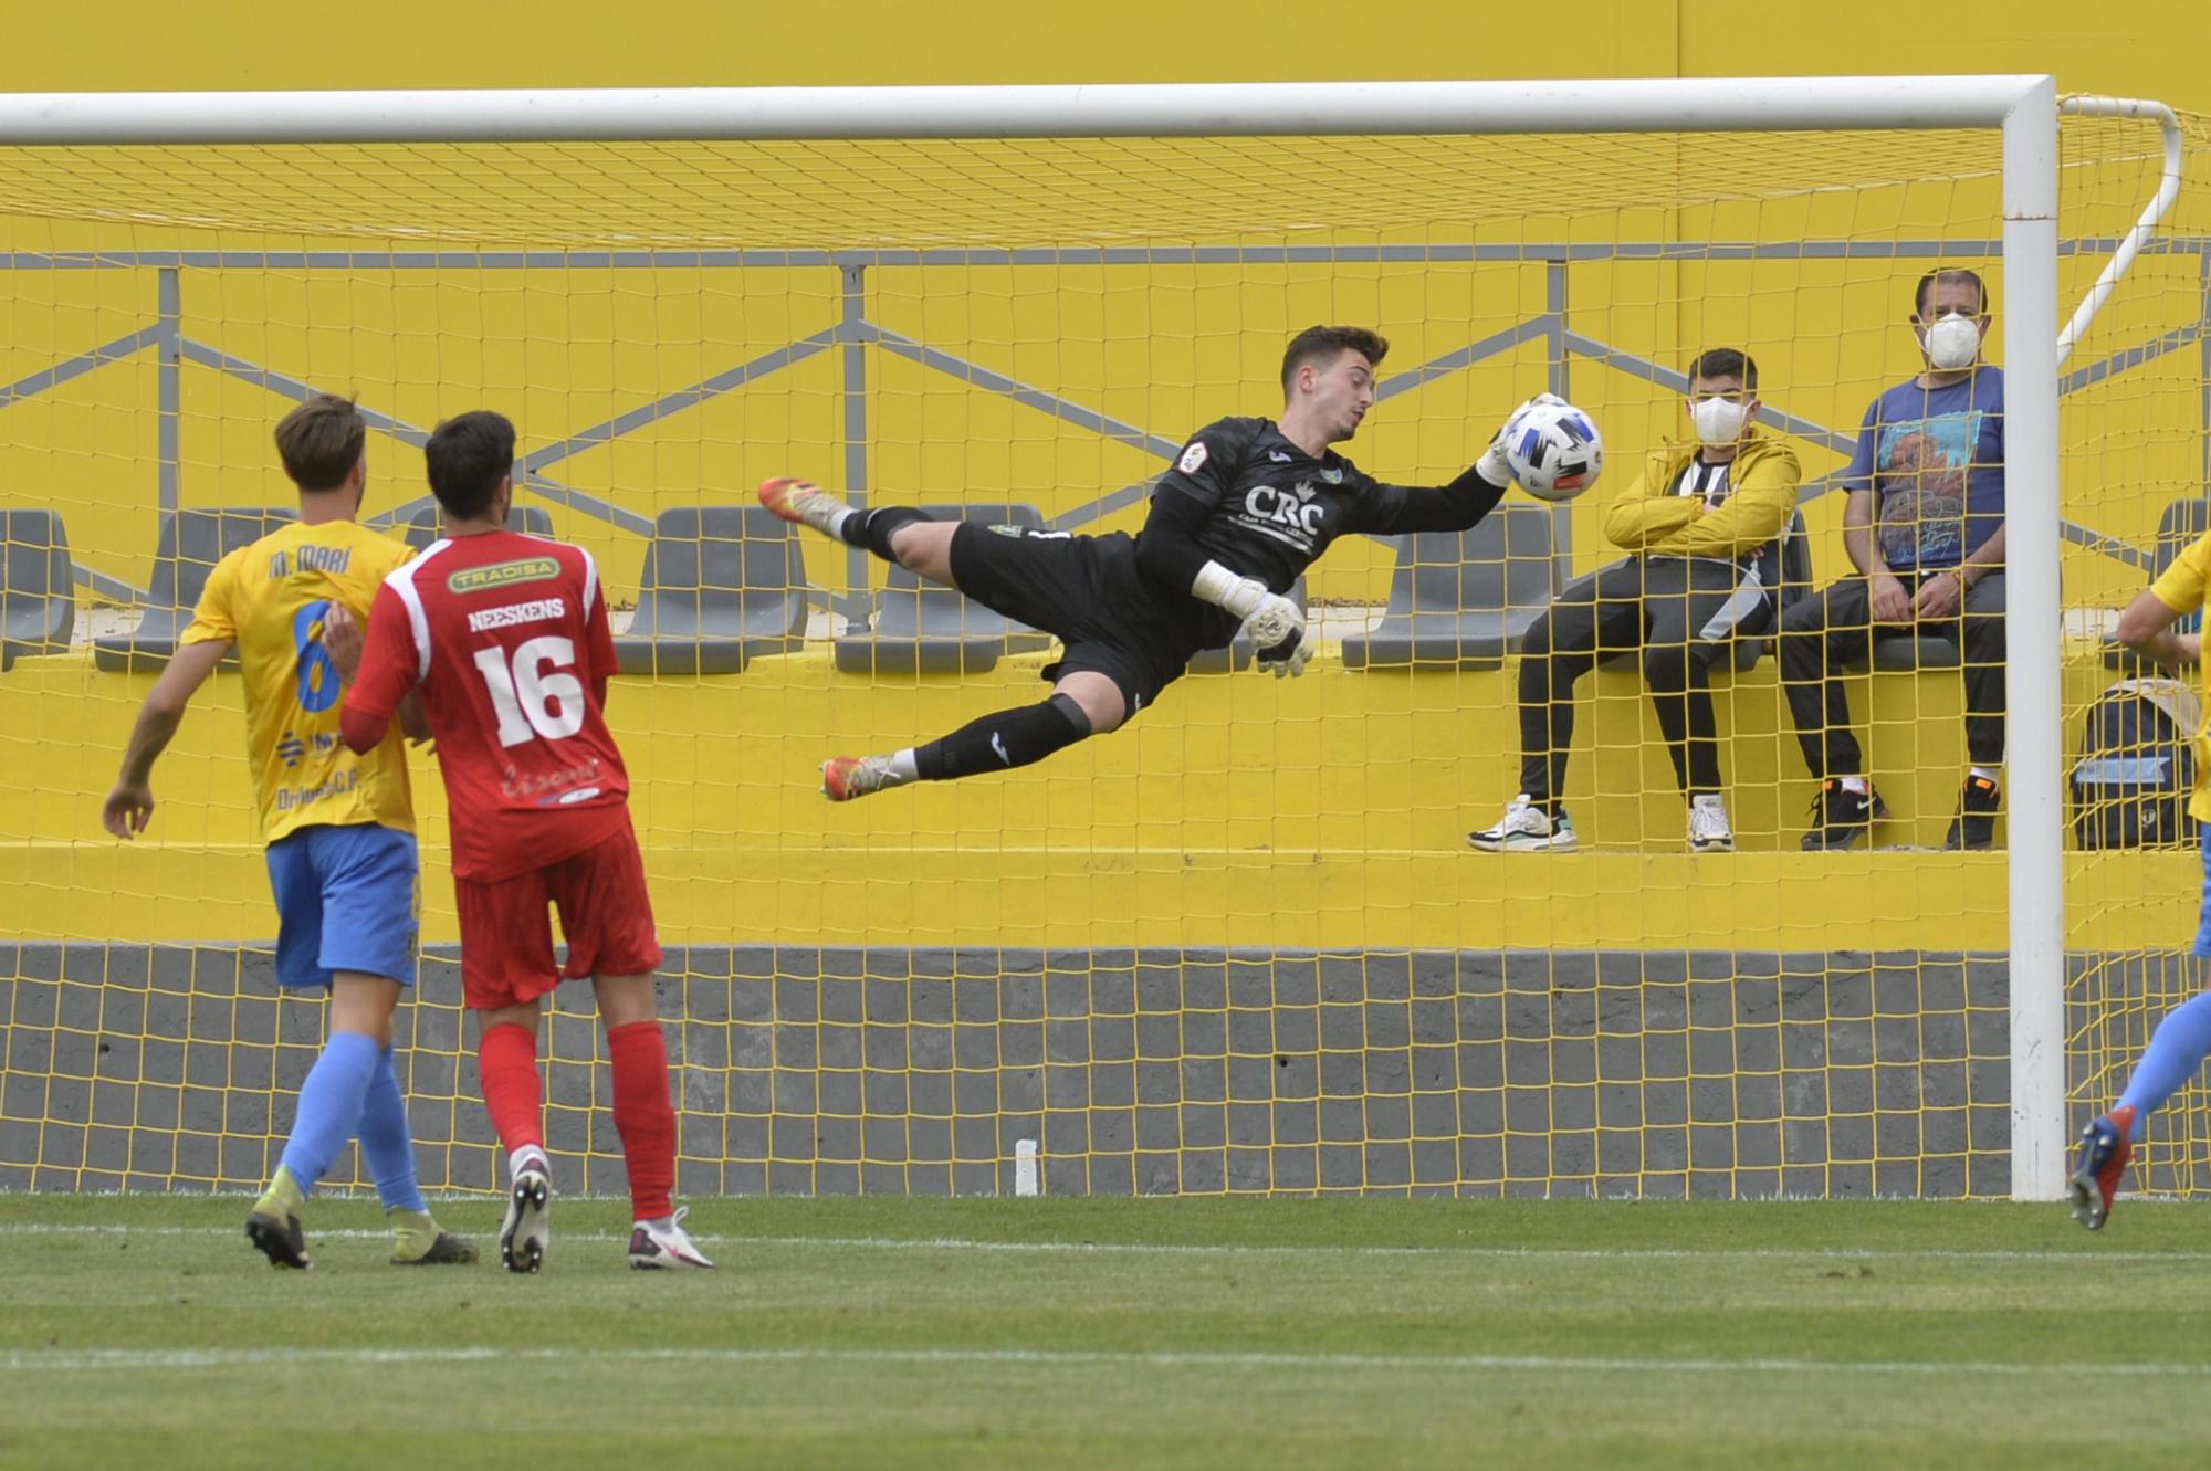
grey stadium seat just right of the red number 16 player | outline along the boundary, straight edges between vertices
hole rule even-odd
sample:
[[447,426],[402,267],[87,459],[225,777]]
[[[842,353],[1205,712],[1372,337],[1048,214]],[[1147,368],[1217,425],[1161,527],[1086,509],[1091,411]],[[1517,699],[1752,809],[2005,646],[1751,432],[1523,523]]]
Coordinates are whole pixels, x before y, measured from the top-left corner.
[[736,674],[807,632],[807,570],[792,523],[758,506],[677,506],[652,521],[637,616],[615,638],[624,674]]

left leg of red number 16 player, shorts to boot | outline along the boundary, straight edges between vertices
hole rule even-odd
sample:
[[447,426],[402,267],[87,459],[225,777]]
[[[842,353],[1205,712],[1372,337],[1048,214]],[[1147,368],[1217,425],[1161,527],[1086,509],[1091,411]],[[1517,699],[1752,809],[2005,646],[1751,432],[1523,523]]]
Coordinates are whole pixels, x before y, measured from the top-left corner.
[[551,1244],[553,1168],[546,1160],[537,1023],[559,985],[553,921],[539,870],[480,883],[453,879],[460,917],[460,990],[475,1014],[475,1078],[484,1113],[506,1151],[506,1217],[500,1261],[535,1272]]

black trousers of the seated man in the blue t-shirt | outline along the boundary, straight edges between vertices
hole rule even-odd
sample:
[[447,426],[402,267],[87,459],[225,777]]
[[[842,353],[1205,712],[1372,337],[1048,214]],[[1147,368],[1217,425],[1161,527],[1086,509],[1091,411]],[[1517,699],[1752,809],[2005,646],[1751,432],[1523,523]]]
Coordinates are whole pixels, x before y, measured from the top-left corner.
[[[1904,574],[1899,581],[1917,592],[1924,579]],[[1864,576],[1822,588],[1782,614],[1782,689],[1804,766],[1815,777],[1866,775],[1840,669],[1873,654],[1875,629],[1932,634],[1959,645],[1966,656],[1966,753],[1974,766],[2003,762],[2003,572],[1990,572],[1950,618],[1875,625],[1873,588]]]

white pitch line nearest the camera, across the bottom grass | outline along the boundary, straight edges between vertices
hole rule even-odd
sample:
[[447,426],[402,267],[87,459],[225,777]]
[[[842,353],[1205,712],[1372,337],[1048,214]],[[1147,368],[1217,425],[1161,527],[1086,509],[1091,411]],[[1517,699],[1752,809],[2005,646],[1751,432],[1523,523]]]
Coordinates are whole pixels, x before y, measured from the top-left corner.
[[1428,1369],[1464,1374],[1517,1369],[1534,1374],[1968,1374],[2001,1378],[2211,1378],[2211,1365],[2189,1363],[1992,1363],[1992,1361],[1877,1361],[1877,1358],[1570,1358],[1554,1354],[1280,1354],[1280,1352],[1110,1352],[1110,1350],[608,1350],[608,1347],[363,1347],[363,1350],[13,1350],[0,1354],[7,1372],[128,1372],[241,1369],[263,1365],[449,1365],[449,1363],[882,1363],[882,1365],[999,1365],[999,1367],[1134,1367],[1134,1369]]

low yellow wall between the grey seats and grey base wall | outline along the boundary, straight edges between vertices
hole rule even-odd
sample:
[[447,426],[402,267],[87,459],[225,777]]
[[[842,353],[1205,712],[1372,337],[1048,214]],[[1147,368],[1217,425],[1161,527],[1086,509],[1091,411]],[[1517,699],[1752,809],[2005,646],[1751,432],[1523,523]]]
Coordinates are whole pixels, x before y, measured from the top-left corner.
[[[838,674],[827,649],[743,676],[617,680],[654,910],[672,945],[1037,945],[1324,950],[2003,950],[2001,853],[1795,850],[1813,782],[1771,660],[1720,676],[1718,724],[1742,853],[1683,853],[1685,808],[1641,678],[1585,694],[1568,800],[1603,850],[1477,855],[1517,780],[1510,669],[1358,674],[1333,652],[1298,682],[1192,676],[1114,740],[1008,777],[829,808],[825,733],[887,749],[1033,698],[1041,656],[966,680]],[[2109,676],[2067,660],[2069,702]],[[97,833],[146,676],[77,656],[0,680],[18,791],[0,846],[0,934],[117,941],[274,932],[239,758],[239,685],[219,676],[164,758],[175,797],[146,839]],[[1855,680],[1895,808],[1888,842],[1939,844],[1963,766],[1955,674]],[[425,936],[455,939],[436,769],[416,766]],[[2127,892],[2069,917],[2072,950],[2165,945],[2193,908],[2191,853],[2072,855]]]

